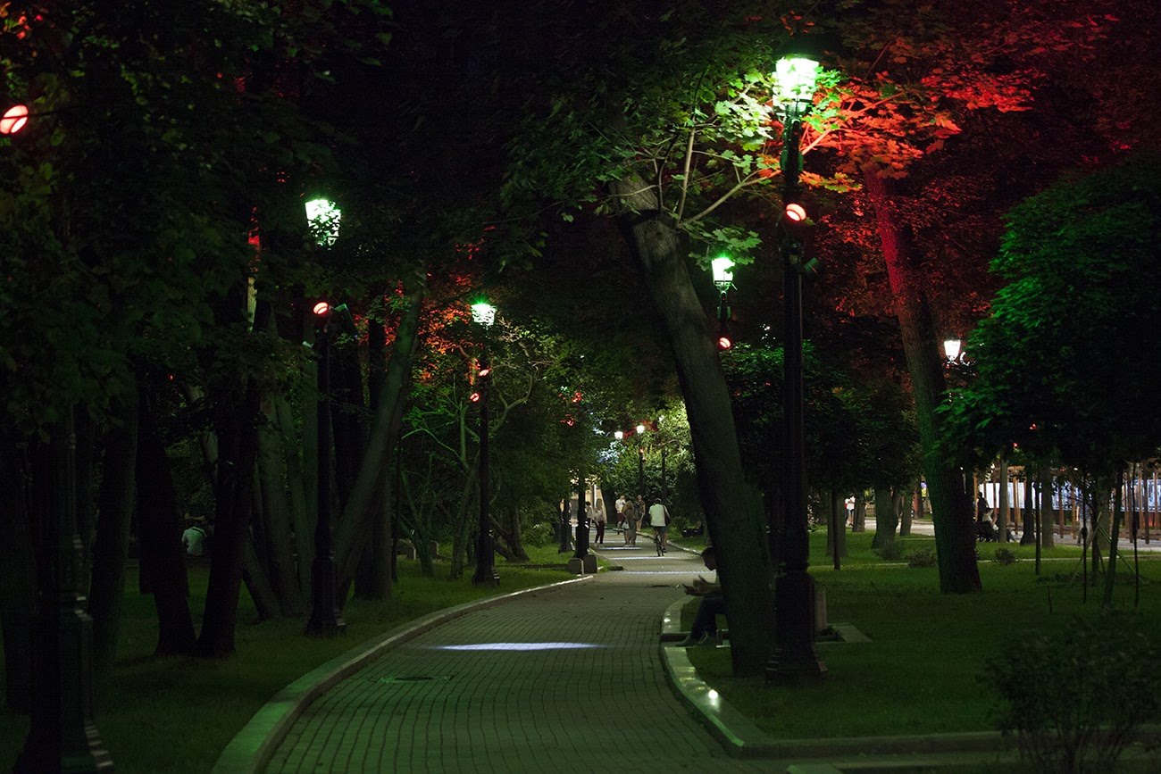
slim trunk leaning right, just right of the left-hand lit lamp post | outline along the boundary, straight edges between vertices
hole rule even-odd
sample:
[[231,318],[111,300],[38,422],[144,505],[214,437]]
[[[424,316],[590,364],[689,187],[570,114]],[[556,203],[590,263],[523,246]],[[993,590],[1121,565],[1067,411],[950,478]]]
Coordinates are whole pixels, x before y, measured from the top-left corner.
[[380,479],[387,468],[387,453],[388,449],[395,448],[399,434],[403,404],[408,397],[408,385],[411,383],[411,363],[419,338],[419,313],[425,297],[426,289],[421,284],[408,296],[408,305],[396,331],[391,362],[387,367],[384,396],[375,411],[370,440],[359,466],[359,476],[355,478],[336,530],[334,564],[336,574],[340,580],[349,580],[354,576],[359,551],[370,534],[373,506],[375,495],[381,489]]

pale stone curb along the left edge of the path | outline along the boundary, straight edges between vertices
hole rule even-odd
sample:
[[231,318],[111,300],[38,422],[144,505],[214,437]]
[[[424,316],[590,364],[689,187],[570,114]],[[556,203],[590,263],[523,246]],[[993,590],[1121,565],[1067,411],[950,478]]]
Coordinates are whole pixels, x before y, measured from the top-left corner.
[[298,719],[298,716],[302,715],[303,710],[312,701],[330,689],[331,686],[356,672],[367,661],[378,657],[384,651],[414,639],[419,635],[468,613],[493,607],[524,594],[548,591],[569,584],[584,583],[593,578],[596,576],[580,576],[579,578],[561,580],[555,584],[521,588],[507,594],[464,602],[463,605],[428,613],[378,637],[355,645],[346,653],[311,670],[276,693],[235,735],[230,744],[222,751],[217,762],[214,764],[211,772],[214,774],[254,774],[260,772],[269,762],[271,755],[290,731],[294,722]]

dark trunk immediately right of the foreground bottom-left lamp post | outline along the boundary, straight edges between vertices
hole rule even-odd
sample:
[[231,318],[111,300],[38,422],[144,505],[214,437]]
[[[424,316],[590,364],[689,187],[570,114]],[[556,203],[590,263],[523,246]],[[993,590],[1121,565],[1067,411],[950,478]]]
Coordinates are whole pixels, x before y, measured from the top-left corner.
[[93,616],[93,677],[99,692],[117,652],[129,525],[136,499],[138,415],[137,391],[134,390],[118,404],[113,427],[104,435],[88,595],[88,614]]

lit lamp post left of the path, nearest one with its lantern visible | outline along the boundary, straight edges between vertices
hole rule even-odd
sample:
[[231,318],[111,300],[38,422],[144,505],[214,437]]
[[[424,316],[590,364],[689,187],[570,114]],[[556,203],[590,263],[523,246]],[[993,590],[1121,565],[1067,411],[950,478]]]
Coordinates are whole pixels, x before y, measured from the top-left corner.
[[[330,247],[339,236],[339,208],[325,198],[307,202],[307,222],[319,247]],[[331,335],[336,313],[346,313],[346,306],[331,306],[320,301],[311,310],[315,314],[315,352],[318,353],[316,404],[318,433],[318,485],[315,518],[315,559],[310,576],[310,619],[307,634],[333,637],[346,631],[347,622],[339,612],[338,583],[334,571],[334,526],[331,519]]]

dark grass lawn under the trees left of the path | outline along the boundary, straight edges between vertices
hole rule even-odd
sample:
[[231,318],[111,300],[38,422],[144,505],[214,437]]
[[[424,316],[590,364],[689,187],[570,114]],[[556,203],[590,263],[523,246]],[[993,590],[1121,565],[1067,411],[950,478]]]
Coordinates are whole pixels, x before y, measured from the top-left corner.
[[[555,547],[528,549],[535,564],[561,564]],[[305,619],[257,623],[243,587],[237,653],[225,660],[153,658],[157,622],[153,601],[137,593],[137,571],[125,588],[124,622],[111,685],[102,692],[96,725],[120,772],[208,772],[222,748],[250,717],[282,687],[316,666],[376,635],[433,610],[572,576],[556,569],[524,569],[497,557],[499,588],[471,585],[435,565],[437,577],[419,574],[418,563],[401,559],[399,583],[390,602],[351,600],[345,635],[313,639],[303,635]],[[208,565],[190,564],[190,607],[201,622]],[[0,651],[2,661],[2,651]],[[0,687],[3,671],[0,670]],[[9,771],[23,746],[28,719],[0,715],[0,769]]]

